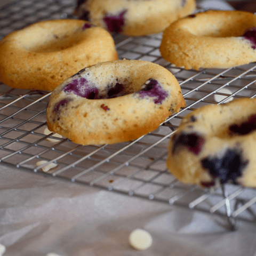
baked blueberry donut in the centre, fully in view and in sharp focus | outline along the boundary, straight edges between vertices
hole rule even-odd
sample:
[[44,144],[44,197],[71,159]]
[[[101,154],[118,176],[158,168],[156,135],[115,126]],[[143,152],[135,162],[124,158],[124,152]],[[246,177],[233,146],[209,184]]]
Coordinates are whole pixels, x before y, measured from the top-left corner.
[[169,70],[141,60],[98,63],[66,79],[51,94],[47,125],[82,145],[139,138],[185,106]]

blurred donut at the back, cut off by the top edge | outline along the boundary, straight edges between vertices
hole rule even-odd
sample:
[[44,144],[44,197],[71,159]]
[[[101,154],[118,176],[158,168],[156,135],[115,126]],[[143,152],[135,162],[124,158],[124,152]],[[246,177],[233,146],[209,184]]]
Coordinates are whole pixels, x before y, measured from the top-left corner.
[[155,34],[195,10],[195,0],[78,0],[74,14],[110,33]]

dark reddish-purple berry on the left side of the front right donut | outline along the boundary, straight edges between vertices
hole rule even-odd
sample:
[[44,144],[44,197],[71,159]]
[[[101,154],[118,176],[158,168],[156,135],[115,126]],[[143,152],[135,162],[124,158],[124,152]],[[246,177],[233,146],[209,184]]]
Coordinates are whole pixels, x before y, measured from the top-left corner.
[[197,135],[196,133],[174,134],[174,136],[172,137],[172,141],[172,154],[175,154],[179,147],[187,147],[190,152],[198,155],[204,144],[204,138]]

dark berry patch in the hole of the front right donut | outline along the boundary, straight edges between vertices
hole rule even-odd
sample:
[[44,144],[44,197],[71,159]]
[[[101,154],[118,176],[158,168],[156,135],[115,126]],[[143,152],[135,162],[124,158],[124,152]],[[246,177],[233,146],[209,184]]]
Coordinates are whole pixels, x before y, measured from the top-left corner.
[[246,135],[256,130],[256,115],[251,115],[246,122],[229,126],[231,135]]

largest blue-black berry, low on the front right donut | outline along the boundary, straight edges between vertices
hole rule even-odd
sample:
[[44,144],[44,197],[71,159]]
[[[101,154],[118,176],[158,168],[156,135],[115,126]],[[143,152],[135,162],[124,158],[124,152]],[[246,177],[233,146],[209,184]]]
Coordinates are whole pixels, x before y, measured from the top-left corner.
[[243,160],[242,151],[238,149],[227,149],[221,158],[209,156],[201,161],[203,168],[208,170],[214,179],[219,178],[221,184],[228,181],[236,183],[248,163],[248,160]]

